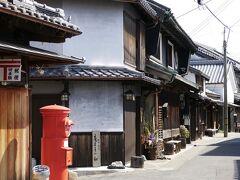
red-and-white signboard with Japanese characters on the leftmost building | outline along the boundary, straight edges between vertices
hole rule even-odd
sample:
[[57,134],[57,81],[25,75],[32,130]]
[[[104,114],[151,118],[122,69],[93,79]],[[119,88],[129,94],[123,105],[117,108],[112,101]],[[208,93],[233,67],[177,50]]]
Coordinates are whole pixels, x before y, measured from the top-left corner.
[[0,81],[21,81],[21,59],[0,59]]

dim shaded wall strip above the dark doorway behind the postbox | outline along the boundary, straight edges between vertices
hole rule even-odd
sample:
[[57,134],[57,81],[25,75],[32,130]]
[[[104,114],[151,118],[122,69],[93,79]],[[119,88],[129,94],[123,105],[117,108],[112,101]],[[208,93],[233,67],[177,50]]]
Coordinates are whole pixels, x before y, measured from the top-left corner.
[[60,94],[64,88],[61,81],[30,81],[32,94]]

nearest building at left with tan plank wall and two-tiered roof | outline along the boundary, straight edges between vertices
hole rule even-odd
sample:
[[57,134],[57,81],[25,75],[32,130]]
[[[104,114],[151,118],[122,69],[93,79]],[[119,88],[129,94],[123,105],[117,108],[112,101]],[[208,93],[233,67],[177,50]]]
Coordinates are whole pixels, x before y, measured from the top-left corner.
[[32,161],[29,67],[79,59],[31,47],[30,41],[64,42],[80,34],[63,10],[35,1],[0,1],[0,179],[30,179]]

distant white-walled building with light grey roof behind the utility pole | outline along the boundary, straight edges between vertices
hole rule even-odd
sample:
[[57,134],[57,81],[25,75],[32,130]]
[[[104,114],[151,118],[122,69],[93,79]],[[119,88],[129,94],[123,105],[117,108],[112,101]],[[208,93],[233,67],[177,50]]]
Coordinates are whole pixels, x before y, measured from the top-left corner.
[[[209,106],[207,128],[223,129],[223,55],[204,45],[198,45],[198,51],[191,58],[191,66],[207,74],[210,79],[206,82],[206,89],[210,90],[208,96],[213,100],[220,99],[216,105]],[[228,88],[228,126],[229,131],[235,131],[234,113],[238,111],[238,105],[235,104],[238,94],[238,84],[236,78],[237,61],[227,57],[227,88]],[[235,96],[236,95],[236,96]],[[216,108],[217,107],[217,108]]]

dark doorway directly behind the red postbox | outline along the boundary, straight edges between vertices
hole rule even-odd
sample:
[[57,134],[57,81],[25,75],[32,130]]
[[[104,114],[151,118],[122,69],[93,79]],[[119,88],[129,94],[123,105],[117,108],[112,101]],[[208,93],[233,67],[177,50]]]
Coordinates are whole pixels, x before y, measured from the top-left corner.
[[42,116],[39,109],[52,104],[61,105],[60,95],[32,95],[32,157],[36,158],[37,163],[41,160],[42,137]]

